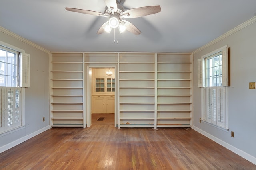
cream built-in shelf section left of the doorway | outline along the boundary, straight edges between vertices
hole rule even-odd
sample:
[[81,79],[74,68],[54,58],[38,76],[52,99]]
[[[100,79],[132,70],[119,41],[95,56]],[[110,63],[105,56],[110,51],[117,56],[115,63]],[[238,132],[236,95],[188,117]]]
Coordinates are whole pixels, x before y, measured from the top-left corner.
[[50,66],[50,125],[85,127],[82,53],[54,53]]

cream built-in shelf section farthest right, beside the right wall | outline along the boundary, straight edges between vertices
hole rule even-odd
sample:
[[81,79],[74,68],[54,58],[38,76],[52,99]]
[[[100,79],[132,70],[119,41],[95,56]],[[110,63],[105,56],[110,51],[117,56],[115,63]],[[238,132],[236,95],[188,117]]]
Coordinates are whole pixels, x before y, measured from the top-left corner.
[[191,127],[191,62],[189,54],[158,54],[157,127]]

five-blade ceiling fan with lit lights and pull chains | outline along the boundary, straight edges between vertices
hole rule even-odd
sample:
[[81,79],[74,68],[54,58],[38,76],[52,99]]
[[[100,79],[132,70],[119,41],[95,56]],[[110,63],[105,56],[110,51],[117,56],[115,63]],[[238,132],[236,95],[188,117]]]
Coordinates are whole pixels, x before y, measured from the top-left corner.
[[137,18],[141,16],[147,16],[156,14],[161,11],[159,5],[156,6],[144,6],[140,8],[132,8],[125,10],[121,5],[124,0],[104,0],[106,4],[105,12],[96,12],[91,10],[83,10],[77,8],[66,8],[68,11],[79,12],[83,14],[90,14],[94,16],[102,16],[109,18],[98,30],[97,34],[102,34],[104,31],[110,33],[112,28],[118,28],[118,31],[122,33],[124,30],[130,31],[135,35],[139,35],[141,31],[135,27],[132,23],[124,18]]

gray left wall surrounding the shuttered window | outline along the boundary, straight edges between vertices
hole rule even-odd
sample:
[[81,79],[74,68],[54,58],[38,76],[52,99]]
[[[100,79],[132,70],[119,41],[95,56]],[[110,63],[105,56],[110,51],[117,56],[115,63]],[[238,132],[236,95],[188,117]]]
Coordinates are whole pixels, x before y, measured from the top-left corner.
[[[30,87],[25,89],[26,127],[1,135],[0,147],[49,126],[49,54],[0,30],[0,41],[30,54]],[[45,121],[43,122],[43,117]]]

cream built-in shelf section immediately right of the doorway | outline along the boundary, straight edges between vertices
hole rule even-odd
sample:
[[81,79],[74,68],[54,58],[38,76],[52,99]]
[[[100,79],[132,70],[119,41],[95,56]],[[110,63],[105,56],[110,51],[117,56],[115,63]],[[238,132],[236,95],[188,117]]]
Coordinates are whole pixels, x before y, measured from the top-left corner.
[[119,127],[155,125],[155,55],[119,55]]

